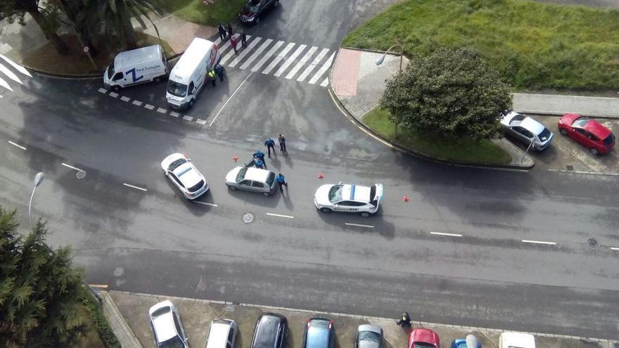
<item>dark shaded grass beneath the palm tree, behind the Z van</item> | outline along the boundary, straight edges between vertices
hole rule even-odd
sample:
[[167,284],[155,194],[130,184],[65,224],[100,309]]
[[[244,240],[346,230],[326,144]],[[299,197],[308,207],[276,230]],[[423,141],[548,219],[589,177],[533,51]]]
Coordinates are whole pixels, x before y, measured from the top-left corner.
[[[52,72],[63,75],[83,75],[83,74],[103,74],[106,67],[110,64],[116,53],[122,51],[119,48],[112,48],[112,51],[101,51],[93,57],[96,67],[92,66],[86,54],[82,51],[82,46],[73,35],[62,35],[63,40],[70,47],[68,55],[61,56],[53,49],[49,42],[44,46],[31,51],[24,57],[22,63],[27,67],[36,70]],[[143,32],[136,32],[138,46],[149,46],[159,44],[159,39]],[[174,55],[174,51],[167,42],[163,41],[163,46],[167,56]]]

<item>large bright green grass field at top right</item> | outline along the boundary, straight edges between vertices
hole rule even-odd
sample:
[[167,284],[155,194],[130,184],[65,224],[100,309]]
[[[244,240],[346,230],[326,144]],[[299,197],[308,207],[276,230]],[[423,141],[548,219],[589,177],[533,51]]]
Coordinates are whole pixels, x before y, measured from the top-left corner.
[[516,89],[619,89],[619,11],[528,0],[403,0],[343,46],[407,55],[440,46],[484,56]]

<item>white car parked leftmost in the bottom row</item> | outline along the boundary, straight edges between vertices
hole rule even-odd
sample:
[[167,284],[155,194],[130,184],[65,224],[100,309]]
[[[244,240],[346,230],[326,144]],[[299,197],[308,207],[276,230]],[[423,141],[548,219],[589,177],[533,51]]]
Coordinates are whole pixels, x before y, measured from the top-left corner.
[[157,348],[189,348],[181,316],[172,302],[165,300],[148,309],[151,331]]

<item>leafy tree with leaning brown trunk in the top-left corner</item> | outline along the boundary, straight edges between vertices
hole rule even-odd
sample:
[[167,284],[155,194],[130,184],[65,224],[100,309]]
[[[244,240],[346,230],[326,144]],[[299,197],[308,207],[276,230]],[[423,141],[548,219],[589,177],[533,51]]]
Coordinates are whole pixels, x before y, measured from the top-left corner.
[[21,25],[25,25],[25,14],[29,13],[37,25],[41,28],[45,37],[53,44],[58,53],[66,54],[69,47],[63,39],[60,39],[56,30],[60,26],[58,20],[58,7],[50,2],[44,9],[39,7],[39,0],[2,0],[0,1],[0,18],[8,18],[8,22],[18,20]]

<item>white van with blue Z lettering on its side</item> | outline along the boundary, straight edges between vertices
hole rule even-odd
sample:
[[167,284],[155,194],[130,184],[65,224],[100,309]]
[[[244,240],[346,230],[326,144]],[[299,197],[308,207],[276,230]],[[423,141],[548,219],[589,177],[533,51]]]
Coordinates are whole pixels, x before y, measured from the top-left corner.
[[161,46],[146,46],[118,53],[103,73],[103,84],[117,91],[134,84],[160,82],[167,77],[167,72]]

